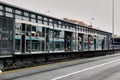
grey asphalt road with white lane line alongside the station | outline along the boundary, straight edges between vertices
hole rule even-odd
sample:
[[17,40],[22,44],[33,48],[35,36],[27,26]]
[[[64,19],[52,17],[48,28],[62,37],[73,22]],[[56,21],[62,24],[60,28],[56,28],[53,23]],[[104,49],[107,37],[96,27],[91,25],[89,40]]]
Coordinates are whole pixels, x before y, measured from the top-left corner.
[[120,54],[7,71],[0,80],[120,80]]

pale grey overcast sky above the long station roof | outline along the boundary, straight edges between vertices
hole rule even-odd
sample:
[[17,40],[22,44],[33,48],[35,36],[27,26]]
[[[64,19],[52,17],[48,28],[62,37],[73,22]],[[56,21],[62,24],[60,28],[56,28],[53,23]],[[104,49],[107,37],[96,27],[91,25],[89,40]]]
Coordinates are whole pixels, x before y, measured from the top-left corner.
[[[112,32],[112,0],[0,0],[32,11],[70,18],[90,24],[94,28]],[[114,32],[120,36],[120,0],[115,1]],[[48,11],[50,11],[48,13]]]

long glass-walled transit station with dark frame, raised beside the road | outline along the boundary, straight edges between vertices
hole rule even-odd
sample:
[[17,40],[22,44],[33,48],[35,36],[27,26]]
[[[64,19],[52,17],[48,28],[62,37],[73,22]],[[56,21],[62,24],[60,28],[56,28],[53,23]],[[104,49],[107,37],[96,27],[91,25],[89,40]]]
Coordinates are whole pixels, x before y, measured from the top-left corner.
[[0,2],[0,69],[108,51],[111,37],[110,32]]

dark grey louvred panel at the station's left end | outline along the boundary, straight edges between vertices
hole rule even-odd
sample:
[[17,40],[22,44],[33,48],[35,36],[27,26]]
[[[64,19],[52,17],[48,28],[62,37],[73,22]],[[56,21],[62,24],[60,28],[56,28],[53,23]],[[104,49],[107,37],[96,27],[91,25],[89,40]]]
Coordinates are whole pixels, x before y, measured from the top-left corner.
[[0,55],[14,53],[14,19],[0,16]]

